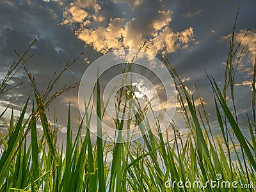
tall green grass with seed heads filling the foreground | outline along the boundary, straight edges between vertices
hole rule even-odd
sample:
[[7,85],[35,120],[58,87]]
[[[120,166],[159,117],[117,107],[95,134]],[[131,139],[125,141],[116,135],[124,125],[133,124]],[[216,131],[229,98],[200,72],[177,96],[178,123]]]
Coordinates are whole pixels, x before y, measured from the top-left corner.
[[[157,132],[158,136],[148,131],[140,142],[108,143],[101,138],[92,141],[91,111],[86,110],[83,120],[79,122],[76,138],[73,138],[75,132],[71,129],[70,111],[67,109],[65,148],[57,146],[57,127],[50,124],[47,107],[61,93],[78,86],[77,83],[67,85],[52,93],[58,79],[77,58],[60,73],[54,74],[46,91],[40,93],[33,75],[26,67],[29,58],[25,59],[35,42],[23,54],[15,51],[19,60],[12,64],[0,85],[0,95],[8,92],[6,84],[23,67],[35,94],[32,110],[28,111],[30,97],[22,106],[18,119],[12,113],[10,121],[6,121],[3,118],[6,111],[1,111],[0,118],[8,128],[8,133],[0,131],[0,147],[3,149],[0,155],[0,191],[255,191],[252,186],[256,186],[256,63],[252,69],[252,98],[248,98],[252,100],[253,114],[249,114],[247,124],[242,125],[237,120],[235,102],[231,107],[227,105],[228,93],[234,101],[236,62],[242,54],[234,45],[234,33],[224,72],[224,87],[220,88],[214,78],[209,76],[214,96],[212,103],[216,108],[215,118],[221,134],[216,134],[212,129],[204,102],[201,100],[201,104],[195,106],[195,100],[186,90],[179,74],[163,57],[175,81],[188,133],[180,134],[179,127],[171,123],[174,138],[168,138],[168,134],[167,138],[163,138],[160,131]],[[98,80],[95,87],[96,106],[97,115],[102,118],[104,113],[100,106],[99,86]],[[29,118],[24,118],[25,113],[30,114]],[[138,114],[136,124],[140,124],[142,118],[147,118],[143,116],[142,109]],[[127,127],[131,125],[129,120],[116,120],[115,129],[121,130],[126,123]],[[37,134],[38,124],[43,127],[43,135]],[[147,124],[140,126],[141,131],[147,130]],[[157,130],[161,130],[159,126],[156,119]],[[243,135],[242,128],[250,131],[250,138]],[[86,136],[82,136],[82,129],[87,130]],[[97,124],[97,130],[101,131],[100,123]],[[28,137],[31,143],[28,143]]]

